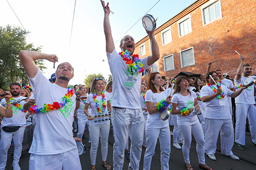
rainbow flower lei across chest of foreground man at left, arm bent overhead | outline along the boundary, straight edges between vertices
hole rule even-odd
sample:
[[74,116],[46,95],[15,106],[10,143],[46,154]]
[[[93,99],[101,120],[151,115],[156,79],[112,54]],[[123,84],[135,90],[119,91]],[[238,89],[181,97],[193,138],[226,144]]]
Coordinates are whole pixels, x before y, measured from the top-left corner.
[[74,95],[73,89],[71,89],[70,86],[68,86],[68,92],[64,95],[64,97],[62,98],[62,102],[58,103],[58,102],[53,102],[53,104],[44,104],[44,106],[42,106],[41,108],[38,107],[38,105],[34,104],[31,106],[31,108],[29,110],[32,111],[32,113],[34,114],[39,114],[41,113],[46,113],[47,111],[51,111],[51,110],[58,110],[59,108],[63,108],[66,103],[70,102],[70,98]]

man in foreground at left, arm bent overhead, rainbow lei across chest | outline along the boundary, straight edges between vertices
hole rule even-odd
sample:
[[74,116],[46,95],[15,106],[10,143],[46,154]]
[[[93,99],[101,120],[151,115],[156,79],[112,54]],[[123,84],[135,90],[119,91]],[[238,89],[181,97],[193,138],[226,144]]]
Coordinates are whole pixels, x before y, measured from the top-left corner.
[[29,109],[36,114],[29,169],[82,169],[76,146],[76,141],[82,141],[72,133],[76,100],[81,95],[68,86],[74,68],[68,62],[59,64],[52,84],[34,63],[40,59],[58,61],[54,54],[20,52],[36,103]]

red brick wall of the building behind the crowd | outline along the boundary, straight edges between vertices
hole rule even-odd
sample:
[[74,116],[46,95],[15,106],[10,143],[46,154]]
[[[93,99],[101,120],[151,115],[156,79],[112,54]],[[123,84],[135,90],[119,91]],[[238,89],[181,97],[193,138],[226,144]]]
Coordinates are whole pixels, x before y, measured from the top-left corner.
[[[206,1],[205,1],[206,2]],[[221,69],[234,78],[239,66],[240,56],[235,50],[245,56],[245,63],[253,68],[256,74],[256,1],[225,0],[221,1],[222,18],[203,26],[201,8],[196,8],[191,15],[192,32],[179,37],[177,22],[171,25],[172,42],[162,46],[161,32],[156,34],[160,48],[159,71],[161,75],[172,77],[181,71],[202,74],[205,78],[207,64],[210,61],[221,60],[212,64],[211,71]],[[184,15],[185,16],[185,15]],[[166,24],[161,27],[166,28]],[[161,29],[157,28],[157,29]],[[139,41],[136,46],[139,46]],[[180,51],[193,47],[195,65],[181,68]],[[149,52],[149,41],[145,41],[146,55]],[[135,53],[139,54],[139,47]],[[175,70],[164,72],[163,57],[173,54]]]

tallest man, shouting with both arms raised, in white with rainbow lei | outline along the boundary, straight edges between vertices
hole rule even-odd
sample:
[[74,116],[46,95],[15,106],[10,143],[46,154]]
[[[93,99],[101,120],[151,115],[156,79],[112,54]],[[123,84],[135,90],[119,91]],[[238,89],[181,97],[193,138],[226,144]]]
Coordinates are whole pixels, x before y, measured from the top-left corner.
[[[114,169],[122,169],[124,163],[124,150],[128,138],[131,134],[131,150],[130,150],[130,169],[138,169],[141,160],[141,150],[143,141],[144,116],[141,109],[139,99],[140,86],[142,79],[143,67],[148,69],[155,61],[160,58],[159,47],[153,32],[147,32],[152,43],[152,55],[137,60],[133,55],[135,50],[135,41],[130,35],[126,35],[121,39],[120,48],[123,52],[126,50],[131,53],[130,59],[124,58],[124,61],[114,47],[114,41],[109,23],[110,9],[108,4],[105,5],[101,1],[105,17],[103,21],[104,32],[106,36],[106,52],[108,64],[113,76],[113,98],[112,98],[112,123],[114,129],[114,151],[113,151],[113,167]],[[124,19],[125,21],[125,19]],[[133,56],[132,56],[133,55]],[[136,65],[138,70],[128,67],[125,59],[141,62]]]

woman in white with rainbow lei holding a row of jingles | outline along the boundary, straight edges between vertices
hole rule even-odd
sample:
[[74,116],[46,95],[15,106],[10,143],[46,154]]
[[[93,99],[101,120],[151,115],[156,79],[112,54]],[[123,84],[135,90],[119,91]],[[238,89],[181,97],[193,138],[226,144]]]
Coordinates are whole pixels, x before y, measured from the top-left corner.
[[[111,104],[108,95],[105,96],[103,90],[103,80],[102,78],[96,78],[93,81],[91,87],[92,93],[88,95],[86,99],[86,105],[84,106],[84,113],[88,116],[90,120],[90,137],[92,141],[92,147],[90,148],[90,161],[92,164],[91,170],[96,169],[96,155],[97,148],[99,146],[99,136],[101,136],[101,155],[102,155],[102,166],[109,170],[111,166],[106,162],[107,160],[107,150],[108,150],[108,135],[110,121],[108,117],[95,118],[95,116],[105,116],[108,113],[107,108],[111,111]],[[92,108],[92,114],[89,115],[88,107]]]

